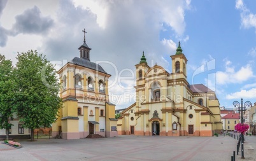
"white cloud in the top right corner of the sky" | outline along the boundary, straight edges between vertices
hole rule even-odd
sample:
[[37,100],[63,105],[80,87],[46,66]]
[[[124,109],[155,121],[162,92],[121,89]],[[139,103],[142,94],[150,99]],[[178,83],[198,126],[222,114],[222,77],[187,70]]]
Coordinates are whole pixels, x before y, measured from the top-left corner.
[[240,10],[241,25],[248,29],[254,27],[256,29],[256,14],[252,13],[246,5],[243,3],[243,0],[236,1],[236,9]]

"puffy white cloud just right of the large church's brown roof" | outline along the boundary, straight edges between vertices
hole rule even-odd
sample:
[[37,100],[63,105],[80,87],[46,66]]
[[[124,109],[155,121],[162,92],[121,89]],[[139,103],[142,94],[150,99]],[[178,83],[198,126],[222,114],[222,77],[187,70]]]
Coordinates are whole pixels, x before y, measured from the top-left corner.
[[242,66],[238,71],[235,71],[234,66],[231,66],[229,60],[225,61],[225,71],[217,71],[217,84],[225,85],[228,83],[243,83],[244,81],[253,78],[253,69],[250,64]]

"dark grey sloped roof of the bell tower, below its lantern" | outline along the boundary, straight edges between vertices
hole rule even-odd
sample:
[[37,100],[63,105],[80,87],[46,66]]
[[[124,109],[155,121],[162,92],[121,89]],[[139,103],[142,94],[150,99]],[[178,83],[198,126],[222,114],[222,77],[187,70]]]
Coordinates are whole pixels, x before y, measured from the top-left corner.
[[82,59],[79,57],[75,57],[74,59],[69,61],[69,63],[76,64],[78,66],[87,67],[89,69],[94,69],[95,71],[100,71],[102,73],[106,73],[106,71],[104,71],[103,67],[101,67],[99,64],[96,64],[95,62],[90,62],[90,60]]

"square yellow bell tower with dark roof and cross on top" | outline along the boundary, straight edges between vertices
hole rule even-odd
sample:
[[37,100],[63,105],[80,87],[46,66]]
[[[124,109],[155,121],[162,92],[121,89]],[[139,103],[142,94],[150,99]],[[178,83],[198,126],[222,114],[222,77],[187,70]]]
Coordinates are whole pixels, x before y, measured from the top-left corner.
[[109,102],[110,74],[99,64],[90,61],[89,46],[78,48],[80,57],[65,64],[57,72],[62,88],[62,108],[52,125],[52,136],[62,139],[117,136],[115,104]]

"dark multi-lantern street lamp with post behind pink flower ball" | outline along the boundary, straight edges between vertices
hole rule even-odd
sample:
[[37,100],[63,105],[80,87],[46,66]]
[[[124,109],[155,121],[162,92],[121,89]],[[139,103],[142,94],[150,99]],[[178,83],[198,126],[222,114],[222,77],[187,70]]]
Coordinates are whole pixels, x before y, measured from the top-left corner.
[[[241,124],[243,124],[243,111],[246,110],[246,107],[248,110],[251,109],[251,106],[252,106],[252,103],[250,101],[246,101],[244,106],[243,106],[243,99],[241,99],[241,107],[240,107],[240,103],[238,101],[234,101],[233,102],[233,105],[234,105],[234,111],[240,111],[241,113]],[[243,138],[243,132],[241,132],[241,158],[245,158],[244,157],[244,151],[243,151],[243,141],[244,141],[244,138]]]

